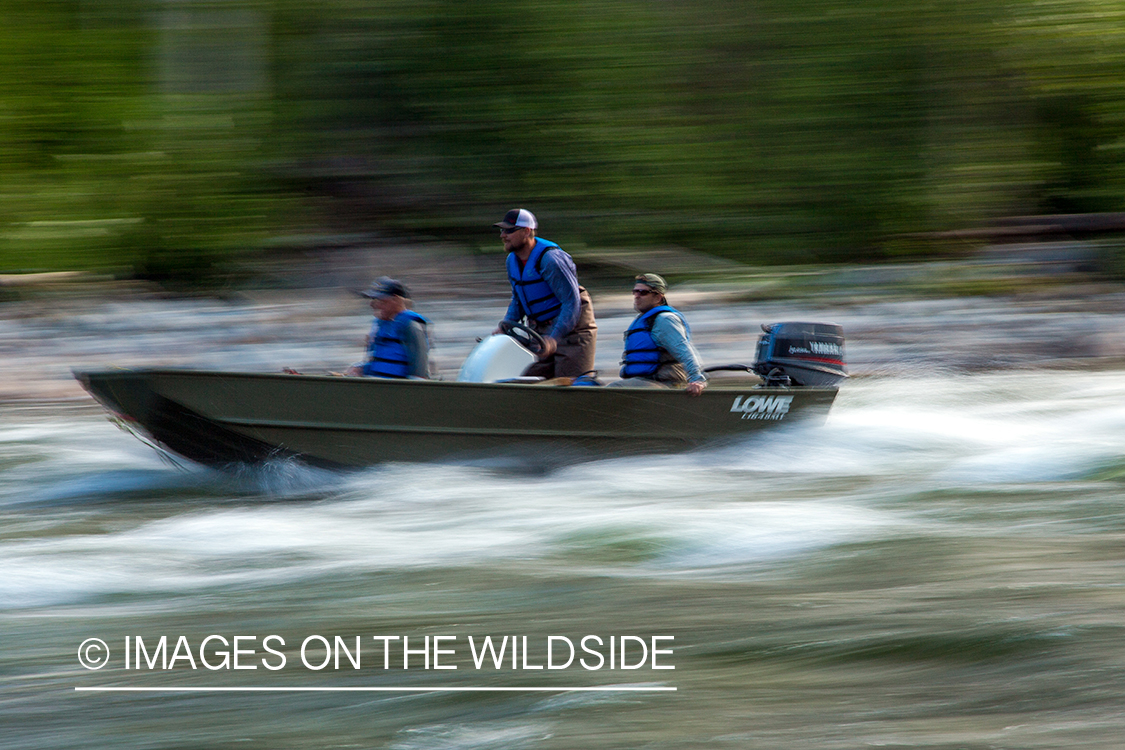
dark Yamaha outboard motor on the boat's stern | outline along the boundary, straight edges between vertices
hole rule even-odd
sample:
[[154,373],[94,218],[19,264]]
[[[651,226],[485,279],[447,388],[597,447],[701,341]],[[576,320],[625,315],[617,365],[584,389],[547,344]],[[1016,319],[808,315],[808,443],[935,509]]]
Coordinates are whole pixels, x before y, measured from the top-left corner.
[[750,368],[767,386],[836,386],[847,378],[844,328],[832,323],[763,324]]

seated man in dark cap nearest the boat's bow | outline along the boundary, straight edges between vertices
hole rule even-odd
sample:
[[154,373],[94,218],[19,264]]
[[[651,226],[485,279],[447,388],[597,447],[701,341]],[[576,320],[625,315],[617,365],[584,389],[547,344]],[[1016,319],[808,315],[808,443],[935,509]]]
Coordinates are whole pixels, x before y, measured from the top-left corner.
[[353,364],[344,374],[367,378],[429,378],[429,320],[407,309],[411,292],[400,282],[387,277],[378,279],[367,291],[375,322],[367,336],[367,361]]

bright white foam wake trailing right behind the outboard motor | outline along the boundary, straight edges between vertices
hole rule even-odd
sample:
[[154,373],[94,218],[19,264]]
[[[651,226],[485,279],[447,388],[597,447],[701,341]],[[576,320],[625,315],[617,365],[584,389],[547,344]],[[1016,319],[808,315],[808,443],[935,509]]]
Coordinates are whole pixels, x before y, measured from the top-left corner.
[[848,382],[814,439],[780,433],[749,466],[912,485],[1066,480],[1119,460],[1117,372],[1015,372]]

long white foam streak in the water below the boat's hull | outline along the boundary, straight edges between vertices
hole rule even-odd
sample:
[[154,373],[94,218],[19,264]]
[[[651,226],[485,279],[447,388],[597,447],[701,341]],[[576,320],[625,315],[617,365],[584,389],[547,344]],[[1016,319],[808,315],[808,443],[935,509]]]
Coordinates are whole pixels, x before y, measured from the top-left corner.
[[559,557],[601,575],[675,575],[760,563],[893,523],[879,512],[819,500],[708,501],[680,487],[654,504],[612,485],[575,491],[564,479],[529,485],[477,476],[470,482],[457,468],[424,479],[413,472],[376,471],[316,503],[197,505],[119,531],[9,541],[0,548],[9,573],[0,599],[38,606],[262,586],[331,571]]

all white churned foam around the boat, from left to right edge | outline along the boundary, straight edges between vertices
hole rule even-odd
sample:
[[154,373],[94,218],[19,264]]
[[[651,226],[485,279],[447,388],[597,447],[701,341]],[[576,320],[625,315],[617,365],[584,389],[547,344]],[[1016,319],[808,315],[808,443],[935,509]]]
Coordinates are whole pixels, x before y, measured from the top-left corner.
[[[78,512],[94,498],[101,513],[90,528],[73,514],[34,534],[9,528],[0,602],[40,606],[505,560],[611,576],[754,575],[777,560],[938,523],[888,498],[1081,480],[1120,462],[1120,380],[1043,372],[856,380],[822,427],[536,476],[448,464],[338,475],[291,462],[241,475],[183,471],[143,445],[126,448],[127,435],[91,417],[6,425],[0,444],[12,468],[0,475],[0,508],[35,500]],[[106,521],[101,506],[123,497],[152,498],[159,509]]]

